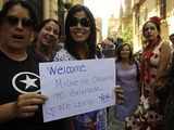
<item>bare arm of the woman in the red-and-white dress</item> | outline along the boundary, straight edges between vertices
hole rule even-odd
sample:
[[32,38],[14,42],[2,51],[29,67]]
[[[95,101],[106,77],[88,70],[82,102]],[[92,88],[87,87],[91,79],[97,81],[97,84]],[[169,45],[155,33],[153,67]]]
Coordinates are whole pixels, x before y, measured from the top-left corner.
[[[171,48],[169,43],[163,43],[161,54],[160,54],[160,66],[157,74],[157,82],[156,82],[156,94],[160,99],[160,102],[162,104],[166,103],[167,95],[171,91],[171,84],[173,80],[171,80],[171,77],[173,75],[173,67],[169,64],[171,62]],[[173,63],[172,63],[173,64]],[[171,65],[172,65],[171,64]],[[172,74],[172,75],[171,75]]]

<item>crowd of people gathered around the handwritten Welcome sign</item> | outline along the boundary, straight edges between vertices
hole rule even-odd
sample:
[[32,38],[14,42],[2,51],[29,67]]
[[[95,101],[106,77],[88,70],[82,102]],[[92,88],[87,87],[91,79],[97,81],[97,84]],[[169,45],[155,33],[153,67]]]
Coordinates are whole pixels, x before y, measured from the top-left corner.
[[[5,2],[0,11],[0,129],[173,130],[174,35],[169,36],[171,47],[161,37],[160,22],[153,16],[144,24],[145,48],[135,58],[123,40],[115,44],[108,38],[98,47],[96,22],[85,5],[70,8],[65,40],[59,46],[59,21],[38,24],[27,1]],[[107,57],[115,58],[115,105],[44,122],[41,106],[48,98],[40,92],[39,63]]]

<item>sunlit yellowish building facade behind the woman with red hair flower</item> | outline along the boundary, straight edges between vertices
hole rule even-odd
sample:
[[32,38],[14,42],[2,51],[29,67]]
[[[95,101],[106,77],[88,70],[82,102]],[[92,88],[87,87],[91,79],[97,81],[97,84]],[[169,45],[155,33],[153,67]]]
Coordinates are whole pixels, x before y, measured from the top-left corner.
[[136,51],[141,49],[144,38],[141,28],[151,16],[159,16],[161,21],[162,39],[169,40],[174,32],[174,1],[173,0],[132,0],[133,10],[133,43]]

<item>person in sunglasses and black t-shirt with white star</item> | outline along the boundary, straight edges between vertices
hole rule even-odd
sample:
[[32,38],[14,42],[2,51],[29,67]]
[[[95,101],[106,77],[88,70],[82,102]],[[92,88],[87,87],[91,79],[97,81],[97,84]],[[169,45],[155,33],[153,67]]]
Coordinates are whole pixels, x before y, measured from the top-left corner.
[[[29,3],[12,0],[0,11],[0,129],[51,130],[60,123],[44,123],[38,61],[28,53],[37,17]],[[70,129],[69,129],[70,130]]]

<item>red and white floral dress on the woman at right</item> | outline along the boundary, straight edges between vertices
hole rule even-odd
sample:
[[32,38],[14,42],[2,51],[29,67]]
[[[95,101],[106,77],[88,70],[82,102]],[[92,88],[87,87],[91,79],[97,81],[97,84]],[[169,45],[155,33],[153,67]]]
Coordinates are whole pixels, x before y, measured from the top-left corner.
[[142,53],[140,105],[134,116],[126,119],[128,130],[163,130],[163,115],[153,86],[162,43],[157,44],[152,51],[146,49]]

